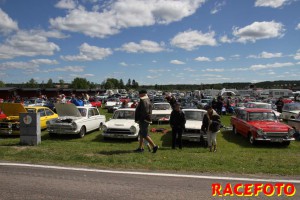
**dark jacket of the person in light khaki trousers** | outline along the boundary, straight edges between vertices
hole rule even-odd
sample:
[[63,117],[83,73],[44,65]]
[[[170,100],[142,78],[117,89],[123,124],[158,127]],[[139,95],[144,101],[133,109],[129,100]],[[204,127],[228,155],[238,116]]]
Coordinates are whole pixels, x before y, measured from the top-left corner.
[[206,113],[203,117],[202,121],[202,127],[201,130],[204,132],[211,131],[211,132],[217,132],[221,128],[221,119],[220,116],[216,113],[216,111],[213,111],[212,117],[211,117],[211,123],[209,122],[208,114]]

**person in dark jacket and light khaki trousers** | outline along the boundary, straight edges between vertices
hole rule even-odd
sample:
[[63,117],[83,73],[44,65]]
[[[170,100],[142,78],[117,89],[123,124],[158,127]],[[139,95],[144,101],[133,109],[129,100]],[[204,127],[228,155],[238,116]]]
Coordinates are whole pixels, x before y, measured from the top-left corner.
[[[217,133],[221,128],[221,119],[211,106],[207,106],[207,113],[203,117],[201,130],[207,134],[207,142],[210,152],[217,151]],[[213,145],[213,149],[212,149]]]

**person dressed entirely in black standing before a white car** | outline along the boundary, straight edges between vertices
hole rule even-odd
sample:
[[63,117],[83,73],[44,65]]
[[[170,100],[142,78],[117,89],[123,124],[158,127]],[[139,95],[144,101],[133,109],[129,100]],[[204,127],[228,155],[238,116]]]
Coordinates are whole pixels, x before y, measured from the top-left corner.
[[185,129],[185,114],[180,109],[180,103],[176,103],[174,110],[171,112],[170,125],[172,128],[172,149],[176,147],[176,138],[178,139],[179,149],[182,149],[182,133]]

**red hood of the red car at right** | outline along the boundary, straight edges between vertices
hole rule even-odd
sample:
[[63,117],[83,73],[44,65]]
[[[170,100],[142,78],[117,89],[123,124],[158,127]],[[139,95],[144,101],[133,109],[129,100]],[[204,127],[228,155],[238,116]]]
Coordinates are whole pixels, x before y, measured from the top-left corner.
[[283,132],[289,129],[288,125],[276,121],[254,121],[249,124],[266,132]]

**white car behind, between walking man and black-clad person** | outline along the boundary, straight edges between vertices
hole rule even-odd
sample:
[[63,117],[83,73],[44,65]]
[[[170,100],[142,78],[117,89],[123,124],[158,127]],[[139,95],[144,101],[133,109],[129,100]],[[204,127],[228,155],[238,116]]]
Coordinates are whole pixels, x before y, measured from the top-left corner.
[[169,122],[172,108],[168,102],[154,103],[152,109],[153,122]]

